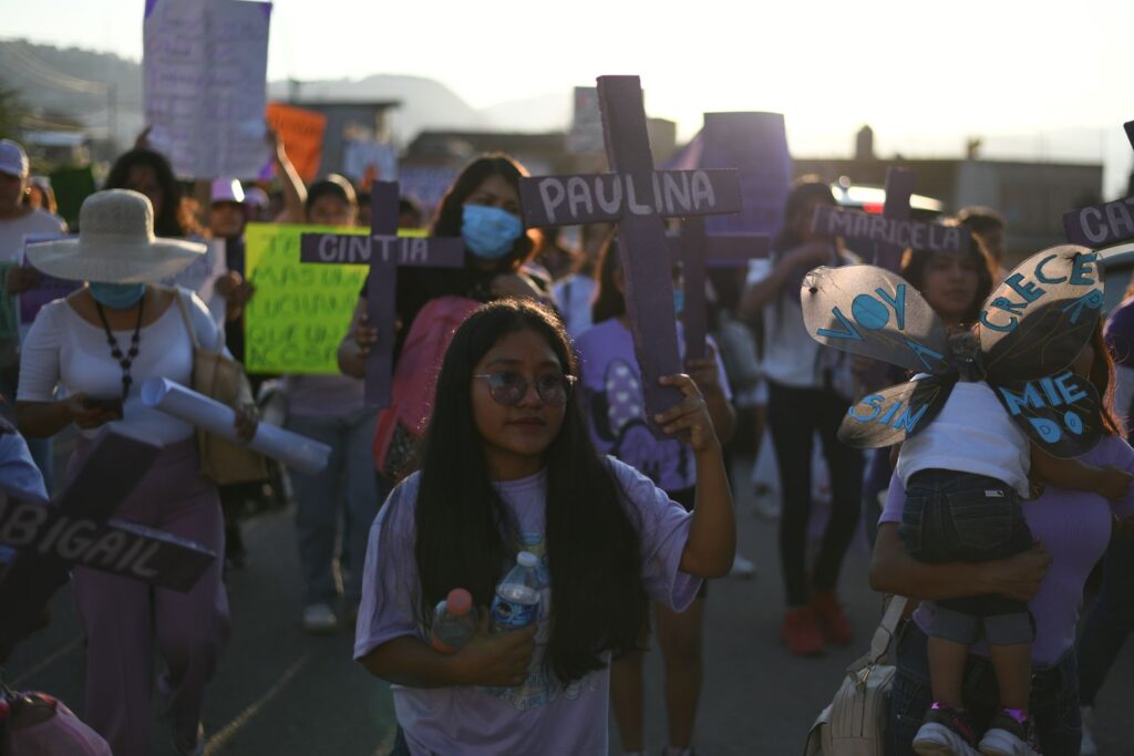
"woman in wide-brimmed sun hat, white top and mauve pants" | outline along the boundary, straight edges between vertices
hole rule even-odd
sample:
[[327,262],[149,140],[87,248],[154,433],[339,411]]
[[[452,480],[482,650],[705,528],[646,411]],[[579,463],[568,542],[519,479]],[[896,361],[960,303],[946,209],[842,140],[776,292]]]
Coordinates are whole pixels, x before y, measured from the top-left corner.
[[[87,197],[79,226],[77,239],[28,247],[39,270],[87,286],[40,311],[28,333],[17,392],[20,431],[46,436],[77,425],[71,469],[107,423],[160,443],[164,451],[115,515],[222,553],[220,501],[198,473],[194,428],[145,407],[139,396],[155,375],[191,383],[189,326],[203,348],[223,345],[195,295],[152,283],[178,273],[204,245],[154,238],[150,201],[127,189]],[[248,418],[238,424],[245,435],[249,427]],[[87,639],[86,721],[116,756],[150,751],[156,645],[168,665],[159,687],[174,741],[181,753],[200,753],[205,683],[228,637],[221,566],[214,562],[185,594],[84,568],[75,571],[75,587]]]

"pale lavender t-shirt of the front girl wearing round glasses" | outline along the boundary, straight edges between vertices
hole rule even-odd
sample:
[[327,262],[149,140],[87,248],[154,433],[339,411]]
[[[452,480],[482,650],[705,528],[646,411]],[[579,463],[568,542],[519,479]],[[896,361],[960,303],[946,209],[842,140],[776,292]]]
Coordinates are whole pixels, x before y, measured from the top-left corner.
[[[608,458],[609,459],[609,458]],[[701,579],[682,572],[682,551],[692,516],[671,502],[649,478],[609,459],[626,494],[625,504],[641,518],[642,585],[652,601],[683,611],[696,596]],[[429,629],[418,622],[421,583],[414,557],[418,475],[390,494],[370,532],[363,598],[355,632],[355,659],[401,636],[422,642]],[[522,534],[517,549],[543,560],[547,479],[539,475],[498,484]],[[610,705],[608,666],[564,686],[543,670],[550,634],[550,576],[541,569],[539,631],[527,680],[514,688],[409,688],[391,685],[398,723],[411,753],[446,754],[606,754]],[[454,586],[457,587],[457,586]]]

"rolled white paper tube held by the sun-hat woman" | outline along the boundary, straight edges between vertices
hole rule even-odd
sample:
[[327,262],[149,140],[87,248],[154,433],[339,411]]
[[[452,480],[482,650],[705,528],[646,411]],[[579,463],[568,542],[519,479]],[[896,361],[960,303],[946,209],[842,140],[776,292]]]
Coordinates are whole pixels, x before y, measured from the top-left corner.
[[[146,407],[160,409],[209,433],[240,443],[236,438],[236,413],[232,408],[186,389],[180,383],[163,377],[149,379],[142,384],[142,402]],[[308,475],[314,475],[327,467],[331,456],[331,448],[325,443],[312,441],[268,423],[260,423],[256,435],[247,447]]]

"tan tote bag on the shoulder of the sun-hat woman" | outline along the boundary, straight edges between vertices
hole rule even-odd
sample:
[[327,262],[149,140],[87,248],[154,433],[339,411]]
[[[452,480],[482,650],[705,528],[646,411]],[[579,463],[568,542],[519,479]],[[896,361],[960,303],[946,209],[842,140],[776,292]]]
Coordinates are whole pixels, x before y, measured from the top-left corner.
[[[185,328],[193,341],[191,388],[234,409],[238,409],[242,404],[252,402],[252,384],[244,374],[244,367],[231,357],[226,357],[223,351],[212,351],[201,346],[193,321],[189,318],[185,297],[176,289],[175,296],[177,306],[181,311],[181,320],[185,321]],[[197,450],[201,455],[201,474],[217,485],[252,483],[268,478],[264,456],[244,444],[197,428]]]

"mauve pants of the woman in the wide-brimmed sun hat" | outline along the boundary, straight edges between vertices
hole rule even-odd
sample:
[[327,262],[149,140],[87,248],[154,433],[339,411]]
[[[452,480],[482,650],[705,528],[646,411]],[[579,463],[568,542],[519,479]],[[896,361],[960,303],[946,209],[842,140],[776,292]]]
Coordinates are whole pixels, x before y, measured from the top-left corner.
[[[70,477],[86,444],[68,465]],[[220,499],[198,473],[194,441],[170,444],[115,516],[196,541],[221,554]],[[86,634],[86,716],[116,756],[150,753],[153,647],[166,661],[158,686],[174,737],[196,742],[205,683],[228,639],[228,598],[215,560],[188,593],[78,568],[78,613]]]

